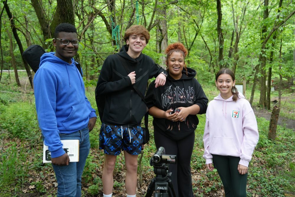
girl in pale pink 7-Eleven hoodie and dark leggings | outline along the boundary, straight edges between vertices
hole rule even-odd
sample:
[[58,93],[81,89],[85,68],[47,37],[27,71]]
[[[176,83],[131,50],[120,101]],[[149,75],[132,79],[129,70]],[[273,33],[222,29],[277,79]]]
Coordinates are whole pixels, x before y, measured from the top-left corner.
[[248,165],[259,138],[256,118],[230,69],[220,69],[215,80],[220,94],[208,104],[203,157],[209,170],[217,169],[226,197],[246,197]]

